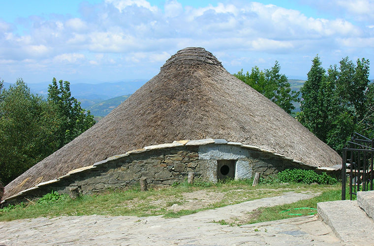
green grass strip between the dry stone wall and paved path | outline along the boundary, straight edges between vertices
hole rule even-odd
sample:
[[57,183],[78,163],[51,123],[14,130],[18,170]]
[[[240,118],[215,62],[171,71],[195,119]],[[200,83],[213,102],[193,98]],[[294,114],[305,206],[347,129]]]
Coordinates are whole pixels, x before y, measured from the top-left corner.
[[[255,187],[252,187],[251,184],[251,180],[226,180],[218,184],[197,181],[193,185],[183,182],[174,184],[174,187],[159,190],[150,189],[144,192],[141,192],[139,187],[135,186],[127,190],[107,190],[99,194],[83,195],[74,200],[65,195],[60,196],[51,192],[47,198],[39,199],[40,202],[34,200],[27,204],[12,205],[0,209],[0,221],[61,215],[164,215],[165,217],[180,217],[244,201],[278,196],[289,191],[335,192],[335,196],[329,199],[340,199],[341,189],[338,184],[275,183],[258,184]],[[198,195],[194,195],[194,192]],[[322,195],[311,200],[309,204],[284,205],[284,207],[274,211],[279,212],[289,209],[290,206],[315,207],[316,202],[326,199]],[[171,208],[173,204],[178,204],[178,208],[181,206],[180,211],[173,211]],[[188,204],[193,204],[193,206],[188,206]],[[268,210],[264,210],[264,213],[268,213]],[[283,216],[287,217],[287,215]],[[278,217],[274,217],[274,219],[278,219]],[[269,219],[264,215],[263,218],[256,217],[252,220],[264,221]]]

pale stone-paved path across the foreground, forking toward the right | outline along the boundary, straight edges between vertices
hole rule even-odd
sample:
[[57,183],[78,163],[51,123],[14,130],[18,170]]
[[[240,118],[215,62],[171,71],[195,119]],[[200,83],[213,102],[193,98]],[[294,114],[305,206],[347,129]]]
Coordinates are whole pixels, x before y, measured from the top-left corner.
[[288,192],[180,218],[62,216],[0,222],[0,246],[18,245],[344,245],[317,215],[257,224],[212,223],[315,194]]

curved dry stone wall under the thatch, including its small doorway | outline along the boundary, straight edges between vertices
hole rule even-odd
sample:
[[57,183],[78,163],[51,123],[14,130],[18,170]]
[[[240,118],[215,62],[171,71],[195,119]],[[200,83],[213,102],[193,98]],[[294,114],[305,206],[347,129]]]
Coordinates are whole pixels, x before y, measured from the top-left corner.
[[189,173],[201,181],[218,182],[225,178],[250,179],[256,172],[266,176],[295,167],[315,169],[280,154],[224,139],[175,141],[111,156],[37,184],[5,202],[41,196],[51,190],[76,197],[108,188],[124,189],[141,183],[141,179],[148,187],[165,187],[184,182]]

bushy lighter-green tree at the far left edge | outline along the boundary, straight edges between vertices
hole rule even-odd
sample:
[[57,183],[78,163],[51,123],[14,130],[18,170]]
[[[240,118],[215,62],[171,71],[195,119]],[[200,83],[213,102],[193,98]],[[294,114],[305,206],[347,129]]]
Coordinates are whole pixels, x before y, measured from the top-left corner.
[[9,183],[55,151],[53,110],[18,79],[0,92],[0,177]]

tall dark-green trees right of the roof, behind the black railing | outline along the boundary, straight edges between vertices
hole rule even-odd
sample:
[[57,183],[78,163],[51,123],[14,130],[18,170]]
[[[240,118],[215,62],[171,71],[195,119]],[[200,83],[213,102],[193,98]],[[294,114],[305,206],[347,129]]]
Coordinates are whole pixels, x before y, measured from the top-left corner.
[[364,58],[356,64],[343,58],[339,68],[333,65],[326,71],[317,55],[300,89],[297,119],[338,152],[353,131],[373,136],[374,87],[368,77],[369,61]]

